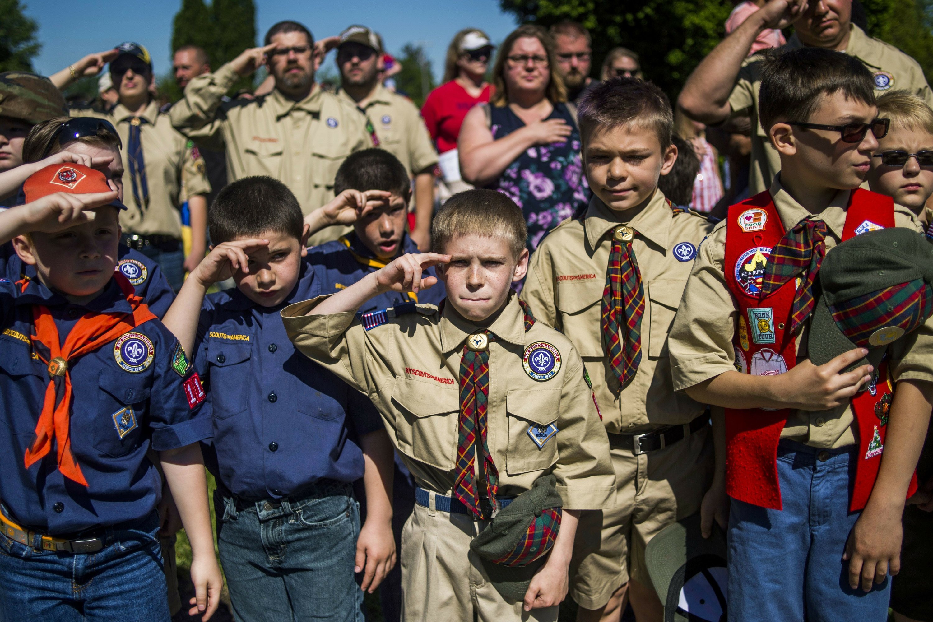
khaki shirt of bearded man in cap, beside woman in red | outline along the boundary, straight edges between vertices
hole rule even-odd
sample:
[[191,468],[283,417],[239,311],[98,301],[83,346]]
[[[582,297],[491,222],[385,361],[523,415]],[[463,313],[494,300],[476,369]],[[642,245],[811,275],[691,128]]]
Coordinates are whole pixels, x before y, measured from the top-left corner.
[[[348,104],[356,105],[345,90],[341,89],[337,95]],[[409,98],[380,84],[369,101],[358,107],[372,124],[379,146],[402,163],[409,177],[438,163],[438,152],[431,144],[425,120]]]

